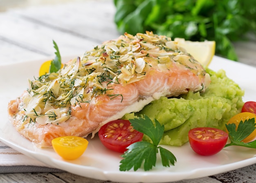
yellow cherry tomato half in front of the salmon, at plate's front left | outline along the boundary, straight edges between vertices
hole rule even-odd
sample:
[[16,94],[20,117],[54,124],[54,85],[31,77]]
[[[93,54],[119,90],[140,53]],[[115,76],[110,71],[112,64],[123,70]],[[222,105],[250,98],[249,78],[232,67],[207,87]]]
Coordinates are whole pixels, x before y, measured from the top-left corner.
[[54,151],[65,160],[79,158],[86,150],[88,140],[76,136],[57,137],[52,140]]

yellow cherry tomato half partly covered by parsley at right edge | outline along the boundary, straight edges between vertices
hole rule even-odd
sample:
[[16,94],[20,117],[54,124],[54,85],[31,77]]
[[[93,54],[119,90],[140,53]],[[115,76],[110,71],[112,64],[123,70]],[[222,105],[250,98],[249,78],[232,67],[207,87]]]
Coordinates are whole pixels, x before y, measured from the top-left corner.
[[[252,118],[254,118],[256,120],[256,115],[254,115],[252,112],[241,112],[241,113],[231,117],[231,119],[229,119],[227,124],[235,123],[236,124],[236,130],[237,130],[237,127],[238,127],[240,121],[245,122],[246,119],[248,120],[248,119],[252,119]],[[251,134],[249,134],[248,137],[246,137],[242,141],[244,143],[248,143],[248,142],[252,141],[255,137],[256,137],[256,129]]]

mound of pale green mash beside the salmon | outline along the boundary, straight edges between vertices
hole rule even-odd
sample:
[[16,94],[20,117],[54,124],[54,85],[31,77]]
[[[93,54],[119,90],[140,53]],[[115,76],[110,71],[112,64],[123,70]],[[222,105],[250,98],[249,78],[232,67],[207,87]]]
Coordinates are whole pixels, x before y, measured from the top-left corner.
[[[189,92],[175,98],[161,97],[152,101],[143,110],[126,114],[125,119],[147,115],[164,124],[164,136],[160,143],[182,146],[188,139],[188,132],[196,127],[213,127],[225,130],[225,123],[241,112],[244,91],[225,71],[206,70],[211,84],[204,93]],[[147,137],[144,137],[148,140]]]

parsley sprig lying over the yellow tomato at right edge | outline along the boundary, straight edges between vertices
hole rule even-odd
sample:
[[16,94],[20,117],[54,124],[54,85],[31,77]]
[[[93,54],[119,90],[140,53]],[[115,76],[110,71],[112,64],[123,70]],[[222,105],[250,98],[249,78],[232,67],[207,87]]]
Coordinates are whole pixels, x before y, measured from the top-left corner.
[[255,129],[256,123],[255,119],[246,119],[244,122],[240,121],[238,124],[237,130],[236,130],[236,124],[235,123],[230,123],[226,124],[226,128],[229,131],[229,139],[230,143],[226,144],[225,147],[228,146],[244,146],[247,148],[256,148],[256,140],[249,142],[249,143],[244,143],[242,142],[243,139],[249,136]]

